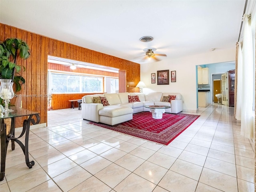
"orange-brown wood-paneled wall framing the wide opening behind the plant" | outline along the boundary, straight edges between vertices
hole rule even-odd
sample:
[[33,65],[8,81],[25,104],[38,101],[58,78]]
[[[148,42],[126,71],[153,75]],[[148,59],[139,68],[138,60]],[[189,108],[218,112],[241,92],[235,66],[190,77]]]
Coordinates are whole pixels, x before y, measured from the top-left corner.
[[[0,23],[0,41],[6,38],[20,38],[30,47],[30,58],[17,60],[17,64],[26,67],[26,71],[21,72],[26,84],[18,94],[22,94],[23,108],[40,113],[40,123],[47,122],[48,55],[126,70],[126,86],[129,85],[129,87],[135,87],[140,81],[140,64],[128,60]],[[11,103],[15,104],[15,102],[16,98],[13,98]],[[16,126],[22,126],[21,121],[16,123]]]

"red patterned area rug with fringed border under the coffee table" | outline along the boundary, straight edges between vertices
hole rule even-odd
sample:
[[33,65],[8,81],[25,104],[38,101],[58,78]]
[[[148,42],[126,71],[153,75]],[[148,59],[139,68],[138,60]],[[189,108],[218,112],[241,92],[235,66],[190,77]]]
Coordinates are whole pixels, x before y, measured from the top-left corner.
[[198,117],[199,115],[164,113],[162,119],[153,119],[150,112],[141,112],[134,114],[132,120],[113,126],[95,122],[90,124],[168,145]]

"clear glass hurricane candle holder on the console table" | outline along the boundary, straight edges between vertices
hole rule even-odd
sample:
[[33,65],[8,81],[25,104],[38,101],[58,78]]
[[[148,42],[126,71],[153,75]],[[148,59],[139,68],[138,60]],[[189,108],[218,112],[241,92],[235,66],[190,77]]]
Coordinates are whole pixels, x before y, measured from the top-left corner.
[[11,79],[0,79],[0,97],[4,100],[5,107],[3,112],[12,112],[13,110],[9,109],[10,99],[14,97],[13,92],[13,82]]

